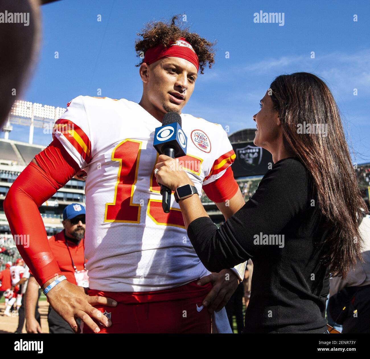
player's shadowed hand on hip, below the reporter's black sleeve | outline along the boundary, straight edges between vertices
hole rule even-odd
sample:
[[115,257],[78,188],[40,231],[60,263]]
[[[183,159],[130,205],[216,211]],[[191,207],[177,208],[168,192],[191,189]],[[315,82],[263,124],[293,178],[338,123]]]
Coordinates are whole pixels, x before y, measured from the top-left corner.
[[197,284],[212,284],[212,289],[203,300],[203,305],[208,307],[208,312],[220,311],[229,301],[236,287],[239,278],[231,269],[223,269],[221,272],[212,273],[198,280]]

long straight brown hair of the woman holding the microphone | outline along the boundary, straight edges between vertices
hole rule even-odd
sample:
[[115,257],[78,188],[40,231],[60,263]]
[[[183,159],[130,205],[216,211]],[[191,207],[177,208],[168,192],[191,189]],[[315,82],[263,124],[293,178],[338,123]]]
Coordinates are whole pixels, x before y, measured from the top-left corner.
[[[327,220],[323,263],[330,266],[332,276],[345,278],[356,261],[362,260],[358,224],[361,208],[367,207],[357,185],[337,104],[325,82],[307,72],[280,75],[270,89],[285,148],[311,173],[317,204]],[[299,129],[304,127],[316,133],[303,129],[303,134]]]

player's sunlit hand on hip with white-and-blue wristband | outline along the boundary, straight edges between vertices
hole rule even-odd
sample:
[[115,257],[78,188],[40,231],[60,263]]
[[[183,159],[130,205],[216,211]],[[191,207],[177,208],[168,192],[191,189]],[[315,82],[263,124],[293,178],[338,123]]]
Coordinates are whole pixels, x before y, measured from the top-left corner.
[[[46,284],[48,284],[48,282],[46,282]],[[46,284],[43,285],[43,288]],[[100,332],[100,328],[92,318],[106,327],[111,326],[112,322],[97,308],[94,308],[93,305],[117,305],[117,302],[110,298],[90,297],[85,294],[85,288],[78,287],[66,280],[55,285],[55,287],[47,293],[47,299],[54,311],[57,312],[76,333],[79,331],[76,322],[77,318],[80,318],[81,321],[95,333]]]

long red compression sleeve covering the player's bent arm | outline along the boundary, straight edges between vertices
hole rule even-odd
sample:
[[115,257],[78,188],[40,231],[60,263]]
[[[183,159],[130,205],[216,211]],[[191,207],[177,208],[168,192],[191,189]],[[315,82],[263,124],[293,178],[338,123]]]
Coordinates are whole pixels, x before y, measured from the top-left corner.
[[[61,274],[51,252],[38,211],[80,168],[57,138],[31,162],[11,185],[3,206],[19,253],[41,286]],[[14,237],[16,236],[16,237]],[[20,240],[28,236],[28,240]]]

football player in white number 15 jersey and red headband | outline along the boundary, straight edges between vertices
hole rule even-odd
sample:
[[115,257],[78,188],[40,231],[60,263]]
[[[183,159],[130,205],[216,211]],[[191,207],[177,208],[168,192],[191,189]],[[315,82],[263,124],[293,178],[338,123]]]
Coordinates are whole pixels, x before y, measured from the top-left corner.
[[[176,19],[148,24],[139,34],[143,40],[135,49],[145,55],[140,102],[73,99],[55,122],[53,142],[23,170],[4,201],[12,233],[30,234],[30,247],[18,246],[22,257],[74,331],[75,318],[81,318],[83,332],[209,333],[211,313],[223,308],[243,279],[245,264],[212,274],[205,269],[174,196],[170,212],[162,210],[153,138],[170,111],[181,114],[188,147],[178,160],[199,196],[203,189],[225,219],[245,203],[225,130],[182,113],[199,70],[207,63],[211,68],[214,54],[212,43],[181,30]],[[80,170],[87,173],[87,295],[60,276],[37,210]]]

